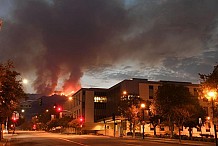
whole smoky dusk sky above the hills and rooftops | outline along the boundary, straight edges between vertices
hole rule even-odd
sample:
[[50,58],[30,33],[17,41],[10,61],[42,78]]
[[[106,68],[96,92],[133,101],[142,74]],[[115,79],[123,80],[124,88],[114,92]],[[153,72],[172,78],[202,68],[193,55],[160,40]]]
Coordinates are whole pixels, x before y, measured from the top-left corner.
[[218,62],[217,0],[0,0],[0,18],[0,62],[27,92],[199,83]]

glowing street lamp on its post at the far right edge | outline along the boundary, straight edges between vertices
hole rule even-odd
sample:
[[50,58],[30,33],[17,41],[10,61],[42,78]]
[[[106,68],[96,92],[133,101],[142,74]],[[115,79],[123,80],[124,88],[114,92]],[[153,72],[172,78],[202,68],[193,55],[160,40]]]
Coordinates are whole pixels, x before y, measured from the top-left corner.
[[213,125],[214,125],[214,134],[215,134],[215,142],[216,142],[216,146],[218,146],[217,143],[217,133],[216,133],[216,122],[215,122],[215,115],[214,115],[214,100],[216,100],[217,98],[217,92],[216,91],[209,91],[207,92],[207,99],[210,100],[212,102],[212,118],[213,118]]

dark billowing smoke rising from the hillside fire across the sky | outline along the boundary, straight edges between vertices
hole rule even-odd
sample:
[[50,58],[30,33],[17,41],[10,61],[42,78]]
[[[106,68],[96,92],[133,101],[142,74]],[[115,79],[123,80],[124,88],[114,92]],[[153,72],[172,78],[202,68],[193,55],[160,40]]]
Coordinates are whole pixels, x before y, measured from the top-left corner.
[[217,33],[217,0],[10,2],[0,58],[14,60],[24,72],[34,69],[34,87],[44,94],[62,76],[64,90],[78,89],[93,65],[127,58],[161,64],[200,55]]

